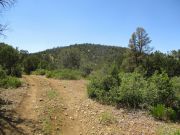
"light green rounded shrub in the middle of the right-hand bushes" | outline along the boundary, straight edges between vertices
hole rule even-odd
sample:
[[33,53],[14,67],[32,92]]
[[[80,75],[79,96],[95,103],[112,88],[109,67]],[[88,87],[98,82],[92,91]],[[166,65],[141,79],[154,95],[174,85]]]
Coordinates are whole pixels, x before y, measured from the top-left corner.
[[146,97],[147,82],[139,73],[124,73],[120,75],[119,102],[128,107],[139,107]]

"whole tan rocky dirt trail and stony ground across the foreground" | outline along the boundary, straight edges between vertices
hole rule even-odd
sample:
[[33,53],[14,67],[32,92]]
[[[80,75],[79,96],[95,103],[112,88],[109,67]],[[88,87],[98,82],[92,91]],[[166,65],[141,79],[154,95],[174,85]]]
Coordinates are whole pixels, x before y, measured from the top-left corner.
[[180,129],[146,112],[116,109],[87,97],[86,80],[23,76],[24,86],[0,90],[2,135],[155,135]]

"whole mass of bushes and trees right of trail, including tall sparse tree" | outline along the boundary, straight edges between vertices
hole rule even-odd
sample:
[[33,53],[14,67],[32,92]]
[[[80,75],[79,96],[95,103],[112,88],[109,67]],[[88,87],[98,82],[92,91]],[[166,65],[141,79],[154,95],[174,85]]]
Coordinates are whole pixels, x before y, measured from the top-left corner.
[[180,120],[180,52],[151,52],[148,34],[137,28],[121,66],[94,73],[90,98],[117,107],[149,110],[159,120]]

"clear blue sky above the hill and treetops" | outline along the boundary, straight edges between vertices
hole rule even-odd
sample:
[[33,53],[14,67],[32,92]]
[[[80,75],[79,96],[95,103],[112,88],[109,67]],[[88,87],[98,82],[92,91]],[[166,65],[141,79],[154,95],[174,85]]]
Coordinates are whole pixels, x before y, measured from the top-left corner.
[[180,0],[17,0],[0,15],[0,42],[29,52],[95,43],[127,47],[143,27],[155,50],[180,49]]

